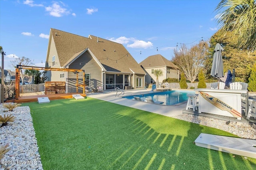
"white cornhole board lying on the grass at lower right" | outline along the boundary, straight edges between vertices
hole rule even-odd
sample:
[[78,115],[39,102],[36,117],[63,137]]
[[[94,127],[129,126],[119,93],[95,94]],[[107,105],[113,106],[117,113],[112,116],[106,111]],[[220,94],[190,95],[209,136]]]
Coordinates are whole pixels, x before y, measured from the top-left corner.
[[196,146],[256,158],[256,140],[201,133]]

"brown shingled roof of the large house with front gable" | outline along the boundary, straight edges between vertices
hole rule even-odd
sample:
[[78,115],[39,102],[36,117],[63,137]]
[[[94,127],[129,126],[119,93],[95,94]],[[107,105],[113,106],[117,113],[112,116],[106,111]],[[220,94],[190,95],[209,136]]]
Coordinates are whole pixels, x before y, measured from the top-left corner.
[[[144,70],[122,44],[93,35],[89,35],[87,38],[51,28],[49,42],[52,38],[61,67],[76,58],[82,51],[90,49],[107,71],[145,74]],[[48,53],[49,47],[50,44]],[[46,61],[48,61],[48,53]]]

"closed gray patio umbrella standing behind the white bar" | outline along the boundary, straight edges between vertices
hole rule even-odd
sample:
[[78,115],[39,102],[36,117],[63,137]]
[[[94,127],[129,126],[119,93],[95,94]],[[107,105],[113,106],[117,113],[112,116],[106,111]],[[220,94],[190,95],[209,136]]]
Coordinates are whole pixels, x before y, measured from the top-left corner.
[[221,78],[224,76],[221,51],[224,49],[219,43],[216,44],[212,60],[211,76]]

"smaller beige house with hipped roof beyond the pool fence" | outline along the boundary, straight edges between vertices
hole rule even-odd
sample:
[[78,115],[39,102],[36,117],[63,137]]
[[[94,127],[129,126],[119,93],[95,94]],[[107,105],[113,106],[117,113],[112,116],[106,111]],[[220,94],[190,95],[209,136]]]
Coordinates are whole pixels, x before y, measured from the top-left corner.
[[179,67],[173,64],[171,61],[164,58],[162,55],[152,55],[139,63],[140,66],[146,72],[146,83],[156,82],[156,76],[154,76],[154,70],[160,69],[163,71],[163,75],[158,78],[158,82],[162,82],[166,78],[178,78],[180,76]]

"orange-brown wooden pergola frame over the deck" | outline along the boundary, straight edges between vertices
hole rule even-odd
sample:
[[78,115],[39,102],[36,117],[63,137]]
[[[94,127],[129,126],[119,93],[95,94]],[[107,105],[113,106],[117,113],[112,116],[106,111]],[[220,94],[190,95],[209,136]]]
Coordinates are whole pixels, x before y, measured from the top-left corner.
[[[83,87],[83,94],[85,94],[85,83],[84,83],[84,70],[72,69],[72,68],[50,68],[50,67],[38,67],[38,66],[24,66],[17,65],[15,69],[15,98],[18,99],[20,96],[20,69],[26,70],[45,70],[45,71],[67,71],[76,73],[76,92],[78,93],[78,87]],[[78,84],[78,72],[83,72],[83,84]]]

